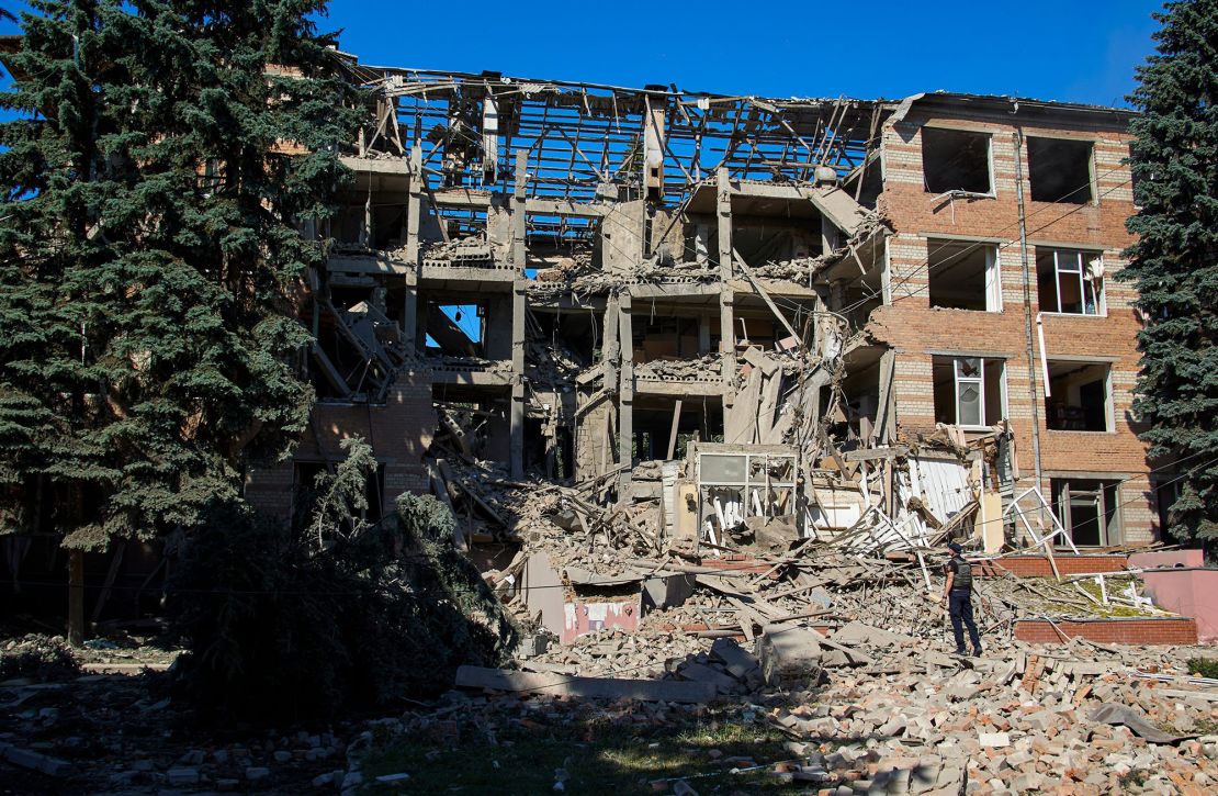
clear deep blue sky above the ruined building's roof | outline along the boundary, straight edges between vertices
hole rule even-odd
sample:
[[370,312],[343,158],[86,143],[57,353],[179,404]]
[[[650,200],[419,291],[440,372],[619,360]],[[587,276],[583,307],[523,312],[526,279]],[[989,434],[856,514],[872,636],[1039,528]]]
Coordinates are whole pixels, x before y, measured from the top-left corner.
[[[2,0],[16,9],[17,0]],[[364,63],[762,96],[1007,94],[1122,105],[1160,2],[334,0]],[[11,23],[0,33],[12,33]]]

